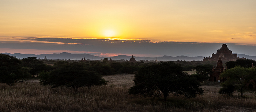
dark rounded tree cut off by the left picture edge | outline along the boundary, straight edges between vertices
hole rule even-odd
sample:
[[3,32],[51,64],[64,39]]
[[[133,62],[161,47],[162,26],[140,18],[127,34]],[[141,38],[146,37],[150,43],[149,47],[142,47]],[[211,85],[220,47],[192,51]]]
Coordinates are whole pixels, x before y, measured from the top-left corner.
[[18,80],[21,61],[14,56],[0,54],[0,82],[13,85]]

